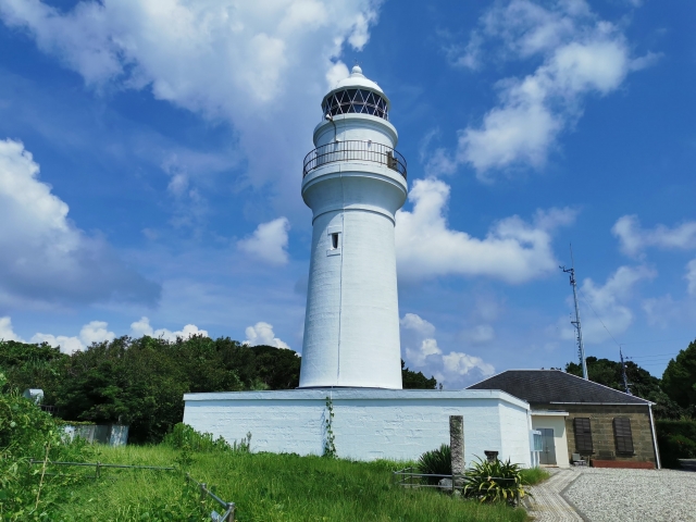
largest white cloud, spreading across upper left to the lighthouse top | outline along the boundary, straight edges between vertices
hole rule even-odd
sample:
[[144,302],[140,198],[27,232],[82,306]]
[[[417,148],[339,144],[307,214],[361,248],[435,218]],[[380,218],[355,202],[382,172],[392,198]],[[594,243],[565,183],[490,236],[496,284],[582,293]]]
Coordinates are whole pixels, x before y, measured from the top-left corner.
[[[299,204],[298,150],[311,148],[326,82],[361,50],[380,0],[85,0],[59,9],[40,0],[0,0],[0,17],[89,88],[148,89],[211,121],[231,122],[248,160],[244,183],[273,182],[277,206]],[[173,175],[170,191],[190,194]]]

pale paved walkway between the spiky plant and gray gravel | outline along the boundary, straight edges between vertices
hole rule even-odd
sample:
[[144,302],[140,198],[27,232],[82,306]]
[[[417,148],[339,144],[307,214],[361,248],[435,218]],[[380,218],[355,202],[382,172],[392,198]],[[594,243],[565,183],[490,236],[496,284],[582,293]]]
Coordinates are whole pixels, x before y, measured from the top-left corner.
[[582,522],[584,519],[561,496],[575,478],[577,469],[548,469],[551,477],[530,489],[534,497],[526,497],[529,513],[535,522]]

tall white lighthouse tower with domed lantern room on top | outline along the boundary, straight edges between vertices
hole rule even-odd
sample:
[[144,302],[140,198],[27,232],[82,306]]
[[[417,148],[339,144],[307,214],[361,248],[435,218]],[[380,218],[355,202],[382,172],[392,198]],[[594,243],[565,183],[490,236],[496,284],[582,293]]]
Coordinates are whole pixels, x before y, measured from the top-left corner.
[[322,102],[302,178],[313,234],[300,388],[401,389],[394,225],[407,184],[389,107],[359,66]]

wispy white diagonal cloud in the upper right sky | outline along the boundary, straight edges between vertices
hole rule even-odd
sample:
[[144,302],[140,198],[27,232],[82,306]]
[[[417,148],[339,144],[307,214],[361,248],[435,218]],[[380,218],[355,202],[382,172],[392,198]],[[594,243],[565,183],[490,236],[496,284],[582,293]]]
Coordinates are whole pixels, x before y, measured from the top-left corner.
[[523,77],[498,82],[498,105],[481,125],[459,132],[453,154],[439,150],[428,165],[437,174],[439,165],[451,172],[452,165],[465,163],[487,182],[511,166],[543,166],[559,134],[582,115],[585,97],[614,91],[631,71],[658,58],[631,58],[620,28],[596,16],[584,0],[495,3],[469,44],[459,52],[448,49],[448,55],[455,65],[469,69],[481,67],[490,55],[523,63],[543,60]]

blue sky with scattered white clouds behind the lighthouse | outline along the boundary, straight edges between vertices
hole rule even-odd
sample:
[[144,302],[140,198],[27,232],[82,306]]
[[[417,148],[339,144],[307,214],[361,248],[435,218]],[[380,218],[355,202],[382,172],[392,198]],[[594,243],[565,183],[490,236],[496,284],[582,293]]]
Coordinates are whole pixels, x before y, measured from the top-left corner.
[[0,0],[0,337],[298,351],[301,161],[355,61],[391,100],[402,355],[455,388],[696,337],[696,4]]

